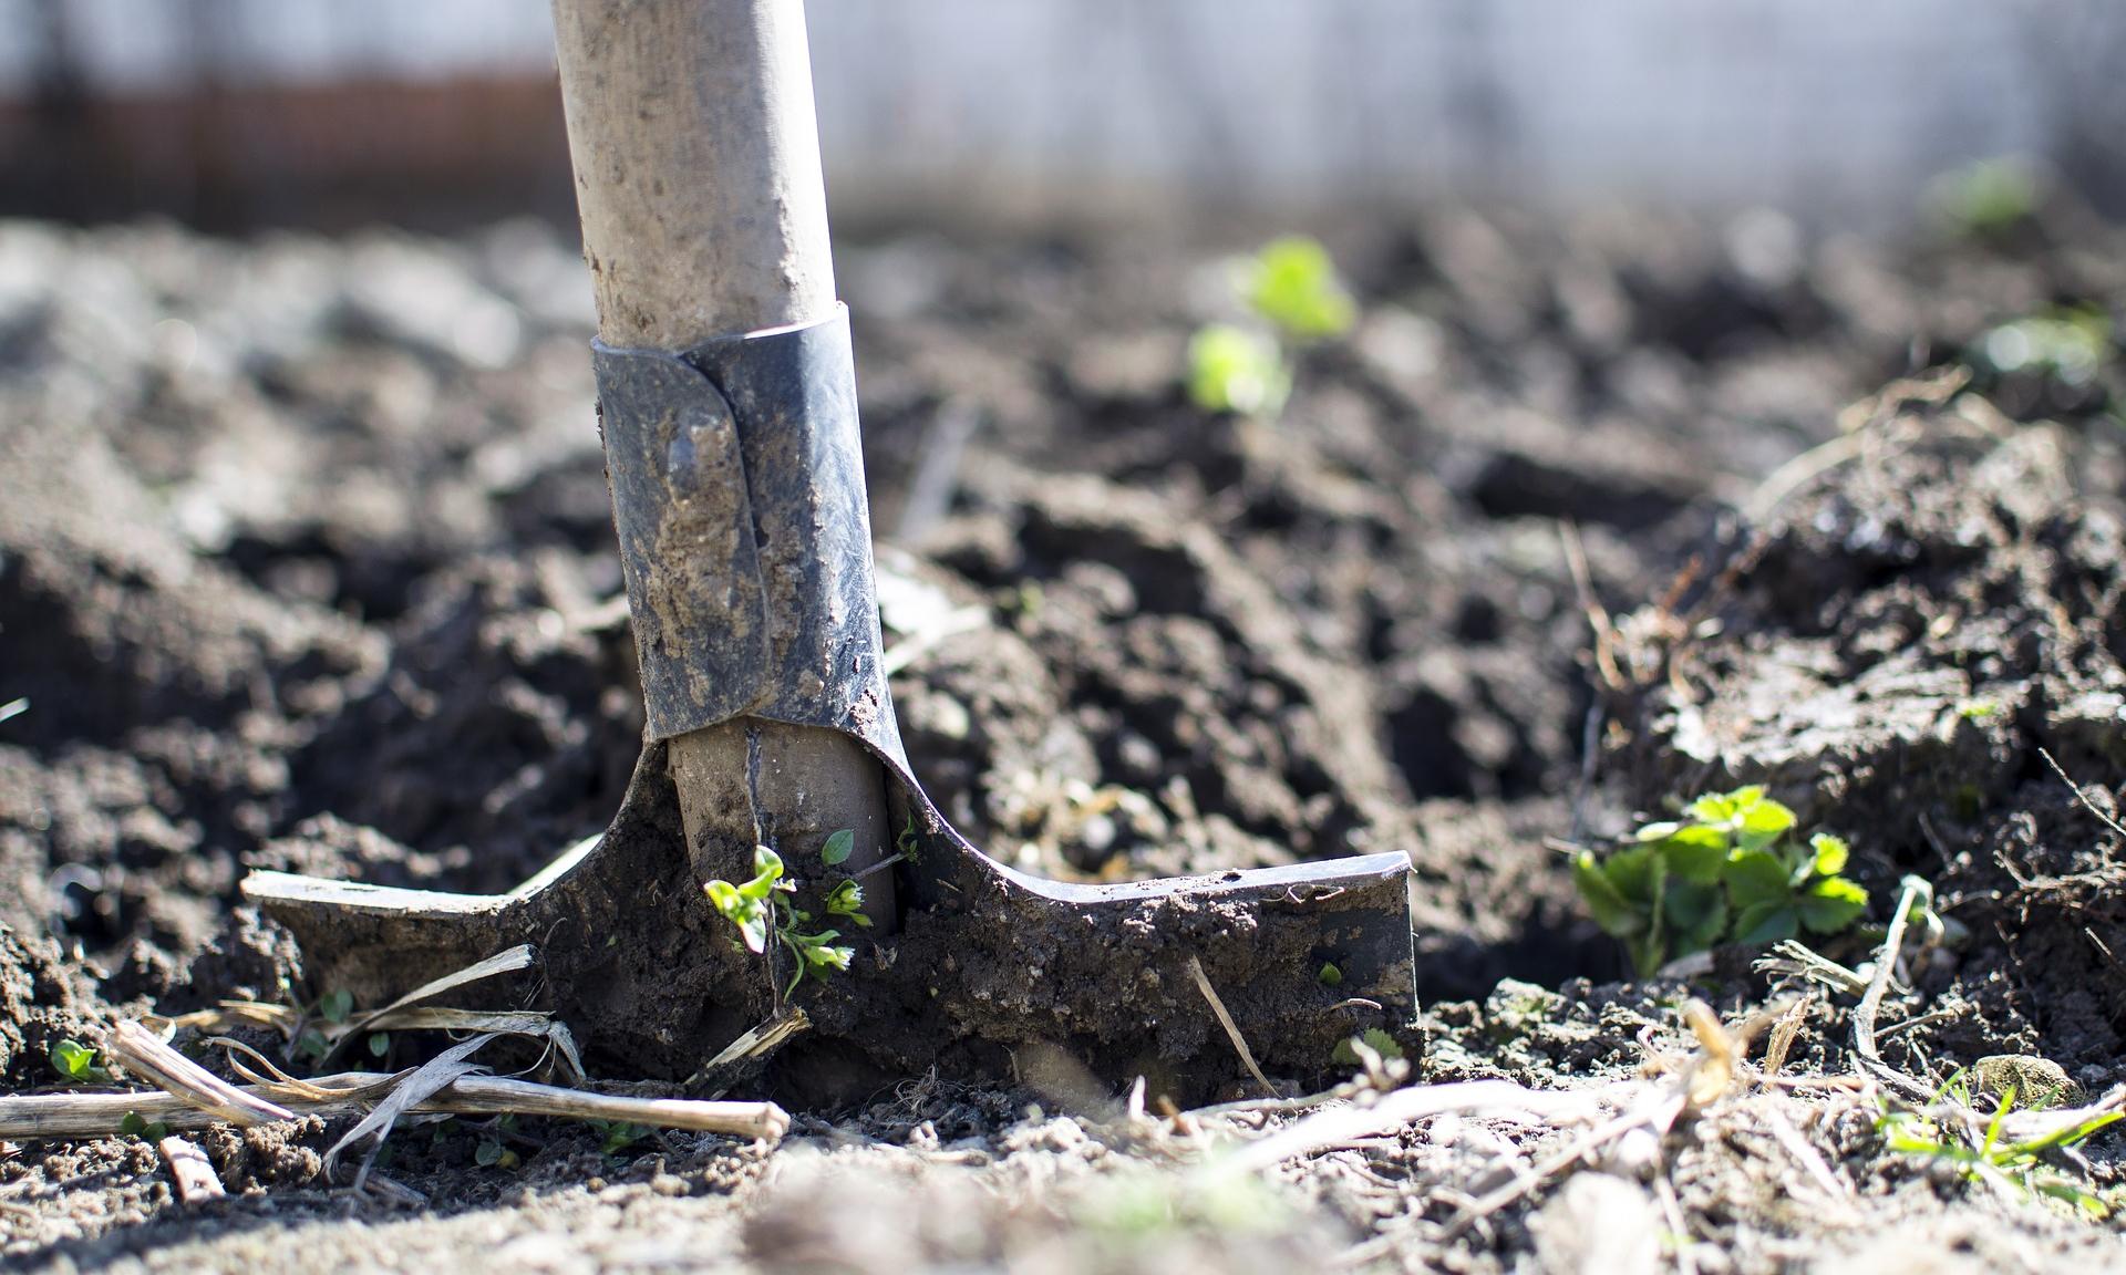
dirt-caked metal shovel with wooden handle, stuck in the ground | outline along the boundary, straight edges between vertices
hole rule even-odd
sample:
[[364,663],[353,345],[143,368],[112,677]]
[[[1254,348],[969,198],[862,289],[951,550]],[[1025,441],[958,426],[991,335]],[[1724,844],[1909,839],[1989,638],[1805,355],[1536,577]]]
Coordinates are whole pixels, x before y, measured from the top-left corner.
[[1403,854],[1050,882],[912,776],[802,2],[555,0],[555,34],[646,742],[612,824],[508,895],[251,873],[313,980],[383,1003],[534,944],[483,994],[642,1075],[793,1039],[776,1082],[814,1096],[935,1067],[1191,1099],[1395,1035]]

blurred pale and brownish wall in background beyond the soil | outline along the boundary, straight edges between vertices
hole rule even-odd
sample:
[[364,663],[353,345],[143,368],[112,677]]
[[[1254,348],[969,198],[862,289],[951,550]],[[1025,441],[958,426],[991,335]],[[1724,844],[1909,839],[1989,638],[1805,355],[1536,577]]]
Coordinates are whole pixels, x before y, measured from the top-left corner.
[[[810,0],[842,215],[2126,191],[2115,0]],[[570,212],[544,0],[0,0],[0,210]]]

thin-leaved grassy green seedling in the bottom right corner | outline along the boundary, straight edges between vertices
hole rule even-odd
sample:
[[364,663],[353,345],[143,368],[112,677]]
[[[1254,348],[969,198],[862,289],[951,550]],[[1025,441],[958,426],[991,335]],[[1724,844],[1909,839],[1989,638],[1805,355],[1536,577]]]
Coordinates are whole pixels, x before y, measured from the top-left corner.
[[2056,1201],[2090,1220],[2109,1218],[2115,1205],[2111,1194],[2096,1190],[2086,1177],[2056,1169],[2047,1156],[2086,1141],[2126,1114],[2100,1111],[2018,1141],[2003,1133],[2013,1109],[2015,1090],[2009,1086],[1984,1130],[1973,1120],[1947,1116],[1971,1111],[1971,1086],[1958,1071],[1935,1092],[1935,1105],[1926,1111],[1892,1109],[1886,1101],[1875,1130],[1892,1152],[1947,1162],[1964,1182],[1984,1182],[2018,1201]]

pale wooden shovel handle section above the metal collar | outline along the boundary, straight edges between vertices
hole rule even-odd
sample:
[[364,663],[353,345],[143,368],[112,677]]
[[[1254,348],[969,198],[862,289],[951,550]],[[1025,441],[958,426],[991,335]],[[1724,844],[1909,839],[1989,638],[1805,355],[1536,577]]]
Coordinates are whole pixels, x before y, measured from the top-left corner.
[[553,0],[583,251],[610,346],[833,310],[802,0]]

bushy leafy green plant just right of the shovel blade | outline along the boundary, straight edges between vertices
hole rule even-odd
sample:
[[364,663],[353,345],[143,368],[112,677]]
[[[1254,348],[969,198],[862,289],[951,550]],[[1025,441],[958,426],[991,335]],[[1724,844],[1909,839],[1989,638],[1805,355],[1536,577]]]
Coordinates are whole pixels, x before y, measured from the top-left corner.
[[1794,812],[1765,788],[1699,797],[1684,814],[1607,856],[1573,856],[1594,924],[1624,941],[1641,978],[1716,944],[1839,933],[1867,910],[1867,890],[1841,876],[1845,842],[1816,833],[1803,844]]

